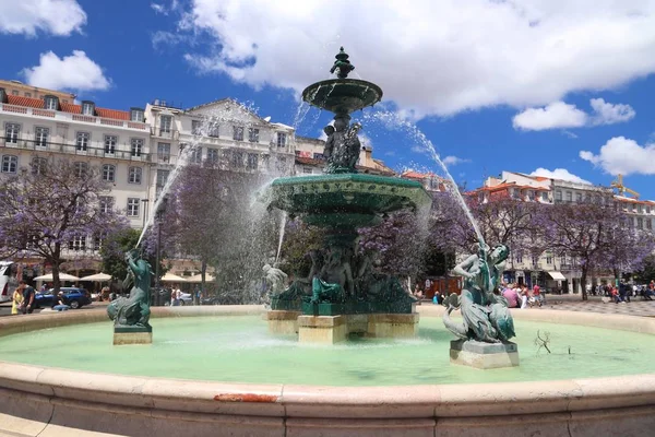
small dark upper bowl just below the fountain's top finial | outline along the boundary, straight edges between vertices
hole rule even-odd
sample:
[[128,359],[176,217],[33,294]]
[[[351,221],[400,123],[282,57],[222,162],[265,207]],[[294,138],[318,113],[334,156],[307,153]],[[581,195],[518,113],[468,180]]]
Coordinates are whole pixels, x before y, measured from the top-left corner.
[[372,106],[382,98],[374,83],[357,79],[330,79],[313,83],[302,92],[302,99],[334,114],[350,114]]

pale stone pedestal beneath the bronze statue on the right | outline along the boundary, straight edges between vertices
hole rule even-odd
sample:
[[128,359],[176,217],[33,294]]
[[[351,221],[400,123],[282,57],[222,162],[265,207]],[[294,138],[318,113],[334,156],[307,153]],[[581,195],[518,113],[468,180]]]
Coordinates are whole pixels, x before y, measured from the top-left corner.
[[474,340],[453,340],[451,364],[479,369],[519,366],[516,343],[484,343]]

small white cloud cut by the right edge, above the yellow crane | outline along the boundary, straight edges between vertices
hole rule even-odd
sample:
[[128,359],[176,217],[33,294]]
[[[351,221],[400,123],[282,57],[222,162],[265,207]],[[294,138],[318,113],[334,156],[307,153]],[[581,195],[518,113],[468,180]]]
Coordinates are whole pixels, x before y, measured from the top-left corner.
[[581,151],[580,157],[610,175],[655,175],[655,144],[642,146],[624,137],[615,137],[607,141],[597,155],[590,151]]

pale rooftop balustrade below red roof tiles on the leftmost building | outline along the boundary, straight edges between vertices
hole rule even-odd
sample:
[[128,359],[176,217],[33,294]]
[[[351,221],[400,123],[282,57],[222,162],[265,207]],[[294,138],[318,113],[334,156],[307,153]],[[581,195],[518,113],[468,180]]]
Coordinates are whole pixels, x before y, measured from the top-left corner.
[[5,137],[0,137],[0,147],[16,149],[16,150],[32,150],[39,152],[55,152],[71,155],[81,156],[94,156],[94,157],[112,157],[117,160],[129,160],[139,162],[150,162],[150,154],[147,153],[132,153],[129,144],[124,144],[123,147],[116,147],[112,152],[107,152],[105,147],[92,147],[87,146],[79,149],[75,144],[66,144],[63,142],[53,141],[35,141],[25,140],[19,138],[15,141]]

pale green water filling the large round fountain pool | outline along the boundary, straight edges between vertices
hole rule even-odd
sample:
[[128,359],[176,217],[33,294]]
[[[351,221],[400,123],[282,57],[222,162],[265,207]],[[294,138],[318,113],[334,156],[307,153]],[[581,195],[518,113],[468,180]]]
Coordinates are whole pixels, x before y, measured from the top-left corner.
[[[521,366],[477,370],[451,365],[440,318],[424,317],[413,340],[299,344],[267,332],[260,317],[152,320],[152,345],[114,346],[111,323],[76,324],[0,338],[0,359],[112,373],[216,381],[323,386],[474,383],[653,373],[655,335],[515,320]],[[537,352],[537,330],[550,350]],[[569,353],[570,349],[570,353]]]

